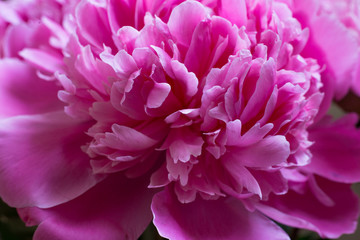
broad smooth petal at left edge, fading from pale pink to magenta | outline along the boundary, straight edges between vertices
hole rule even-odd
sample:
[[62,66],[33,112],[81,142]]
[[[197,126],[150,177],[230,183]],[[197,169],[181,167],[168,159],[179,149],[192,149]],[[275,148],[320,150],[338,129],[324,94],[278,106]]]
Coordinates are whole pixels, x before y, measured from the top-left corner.
[[0,121],[0,196],[13,207],[51,207],[82,194],[93,175],[81,146],[88,123],[61,112]]

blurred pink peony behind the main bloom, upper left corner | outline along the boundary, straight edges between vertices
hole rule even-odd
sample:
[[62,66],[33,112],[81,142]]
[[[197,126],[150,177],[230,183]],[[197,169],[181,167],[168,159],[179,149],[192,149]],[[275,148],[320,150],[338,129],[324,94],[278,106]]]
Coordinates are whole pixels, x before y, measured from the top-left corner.
[[61,58],[61,50],[51,46],[48,29],[52,21],[61,21],[61,12],[56,1],[0,2],[0,118],[63,107],[57,100],[60,88],[54,78],[40,79],[45,75],[19,55],[24,48],[32,47]]

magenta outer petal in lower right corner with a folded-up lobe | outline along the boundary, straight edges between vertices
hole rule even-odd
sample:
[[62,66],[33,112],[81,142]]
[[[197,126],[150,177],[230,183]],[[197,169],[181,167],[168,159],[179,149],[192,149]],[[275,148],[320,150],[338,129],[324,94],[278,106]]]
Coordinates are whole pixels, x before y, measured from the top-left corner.
[[359,215],[359,199],[350,185],[317,178],[322,191],[332,200],[321,203],[310,188],[303,194],[289,191],[287,194],[272,195],[257,209],[274,220],[289,226],[316,231],[321,237],[338,238],[341,234],[353,233]]

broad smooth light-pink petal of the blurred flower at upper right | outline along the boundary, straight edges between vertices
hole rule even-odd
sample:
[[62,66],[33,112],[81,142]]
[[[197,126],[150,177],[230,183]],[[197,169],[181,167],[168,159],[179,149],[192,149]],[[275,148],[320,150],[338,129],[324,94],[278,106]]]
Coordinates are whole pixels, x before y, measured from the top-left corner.
[[335,97],[342,98],[352,82],[351,74],[357,61],[354,49],[357,49],[358,43],[334,14],[319,13],[320,4],[320,1],[313,0],[294,1],[294,16],[311,32],[302,55],[314,57],[320,64],[326,65],[322,78],[327,79],[325,84],[334,81]]

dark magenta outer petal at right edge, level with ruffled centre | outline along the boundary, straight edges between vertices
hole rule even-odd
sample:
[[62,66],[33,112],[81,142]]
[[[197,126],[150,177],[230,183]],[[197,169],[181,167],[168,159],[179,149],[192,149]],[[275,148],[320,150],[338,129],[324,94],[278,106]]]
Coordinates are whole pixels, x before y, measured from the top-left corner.
[[334,123],[323,120],[311,128],[313,157],[306,171],[337,182],[359,182],[360,131],[356,122],[355,115],[348,115]]

